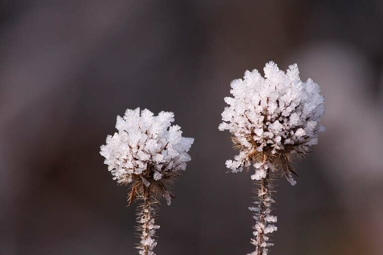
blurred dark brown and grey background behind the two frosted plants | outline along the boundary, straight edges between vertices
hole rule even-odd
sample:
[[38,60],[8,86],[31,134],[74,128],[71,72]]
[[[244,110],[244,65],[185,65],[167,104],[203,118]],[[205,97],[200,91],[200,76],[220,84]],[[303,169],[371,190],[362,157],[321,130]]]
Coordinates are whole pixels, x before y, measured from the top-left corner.
[[270,254],[382,255],[382,19],[381,0],[0,1],[0,254],[137,254],[98,154],[137,106],[195,137],[157,254],[251,252],[250,173],[225,174],[217,127],[230,81],[273,60],[322,86],[327,130],[277,183]]

